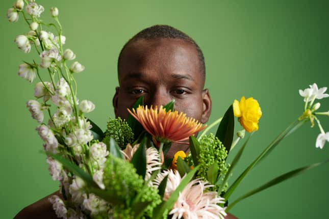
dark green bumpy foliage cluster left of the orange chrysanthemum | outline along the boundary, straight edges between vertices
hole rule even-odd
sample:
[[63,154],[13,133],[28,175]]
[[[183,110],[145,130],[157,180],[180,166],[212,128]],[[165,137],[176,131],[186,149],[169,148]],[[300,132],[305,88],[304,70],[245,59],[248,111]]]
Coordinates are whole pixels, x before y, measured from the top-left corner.
[[134,133],[131,127],[120,117],[116,119],[109,119],[105,137],[114,139],[120,148],[124,149],[128,143],[134,141]]

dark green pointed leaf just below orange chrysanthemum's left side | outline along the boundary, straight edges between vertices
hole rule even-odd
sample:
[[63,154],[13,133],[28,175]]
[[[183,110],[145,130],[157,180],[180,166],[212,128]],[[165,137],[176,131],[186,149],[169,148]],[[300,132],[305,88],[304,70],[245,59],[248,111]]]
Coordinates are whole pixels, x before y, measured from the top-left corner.
[[141,142],[130,162],[136,168],[136,173],[144,179],[146,174],[146,137]]

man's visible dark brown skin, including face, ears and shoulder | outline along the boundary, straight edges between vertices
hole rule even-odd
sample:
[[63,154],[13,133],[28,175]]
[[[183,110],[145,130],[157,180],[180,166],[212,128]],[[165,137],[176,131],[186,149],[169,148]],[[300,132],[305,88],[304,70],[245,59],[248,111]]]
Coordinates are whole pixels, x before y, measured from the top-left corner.
[[[175,99],[175,110],[206,123],[211,113],[211,98],[204,89],[199,66],[197,51],[189,42],[157,39],[130,43],[119,65],[120,87],[113,97],[115,116],[128,118],[126,109],[143,96],[144,104],[154,106]],[[188,151],[188,145],[172,144],[167,157],[180,150]],[[58,191],[55,194],[60,196]],[[24,208],[15,218],[57,218],[48,197]],[[227,214],[225,218],[236,217]]]

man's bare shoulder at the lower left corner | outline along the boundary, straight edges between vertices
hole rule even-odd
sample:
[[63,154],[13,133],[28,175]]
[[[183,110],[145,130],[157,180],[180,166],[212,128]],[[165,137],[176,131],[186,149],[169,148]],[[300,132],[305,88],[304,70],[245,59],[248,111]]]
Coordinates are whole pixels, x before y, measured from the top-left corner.
[[40,199],[39,201],[23,208],[14,218],[15,219],[41,219],[41,218],[57,218],[55,211],[53,210],[52,203],[49,202],[48,198],[50,196],[57,195],[62,197],[59,191],[56,191],[49,196]]

